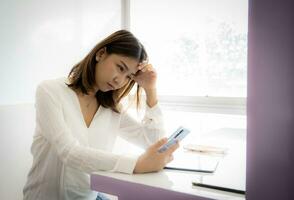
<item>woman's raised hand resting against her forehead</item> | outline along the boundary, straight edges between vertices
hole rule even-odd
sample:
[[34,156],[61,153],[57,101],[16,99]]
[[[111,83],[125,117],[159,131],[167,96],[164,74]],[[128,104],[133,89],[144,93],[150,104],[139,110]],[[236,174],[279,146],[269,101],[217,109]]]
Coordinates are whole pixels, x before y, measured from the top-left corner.
[[151,64],[140,63],[139,71],[132,77],[145,91],[156,89],[157,73]]

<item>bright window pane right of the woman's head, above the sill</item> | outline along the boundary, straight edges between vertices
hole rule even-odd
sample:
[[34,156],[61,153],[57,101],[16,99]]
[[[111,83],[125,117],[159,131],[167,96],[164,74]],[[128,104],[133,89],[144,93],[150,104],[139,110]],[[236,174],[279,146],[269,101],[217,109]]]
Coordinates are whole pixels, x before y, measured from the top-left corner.
[[246,97],[247,1],[131,1],[160,95]]

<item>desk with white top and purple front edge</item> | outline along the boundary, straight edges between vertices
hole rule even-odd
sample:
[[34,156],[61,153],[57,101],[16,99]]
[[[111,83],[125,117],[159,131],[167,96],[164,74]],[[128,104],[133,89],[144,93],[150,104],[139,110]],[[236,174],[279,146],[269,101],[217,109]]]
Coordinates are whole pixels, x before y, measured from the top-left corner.
[[[225,134],[228,134],[227,138],[221,137]],[[217,143],[223,143],[222,139],[226,139],[226,147],[229,145],[228,155],[220,161],[213,174],[167,169],[157,173],[132,175],[100,171],[91,175],[91,189],[118,196],[119,200],[244,200],[245,196],[241,194],[192,186],[192,181],[202,180],[203,183],[211,184],[238,182],[245,187],[245,142],[240,142],[245,131],[231,134],[233,133],[229,130],[220,130],[205,138],[210,142],[216,140]]]

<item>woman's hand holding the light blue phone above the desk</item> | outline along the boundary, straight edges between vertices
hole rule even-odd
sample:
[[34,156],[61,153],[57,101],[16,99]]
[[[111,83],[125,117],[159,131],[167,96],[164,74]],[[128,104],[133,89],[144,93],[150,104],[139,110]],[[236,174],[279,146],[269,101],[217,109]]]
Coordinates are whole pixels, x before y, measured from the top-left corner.
[[179,142],[162,153],[158,152],[158,149],[166,142],[167,138],[163,138],[151,145],[138,158],[134,173],[156,172],[162,170],[167,163],[171,162],[173,160],[172,153],[179,148]]

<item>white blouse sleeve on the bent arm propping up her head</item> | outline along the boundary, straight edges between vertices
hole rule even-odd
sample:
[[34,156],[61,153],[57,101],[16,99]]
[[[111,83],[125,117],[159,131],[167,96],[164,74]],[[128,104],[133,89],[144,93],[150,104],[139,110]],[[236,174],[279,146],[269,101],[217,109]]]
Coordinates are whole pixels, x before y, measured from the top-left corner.
[[120,136],[125,140],[146,149],[164,137],[163,115],[158,104],[150,108],[146,105],[145,115],[141,122],[127,113],[121,116]]

